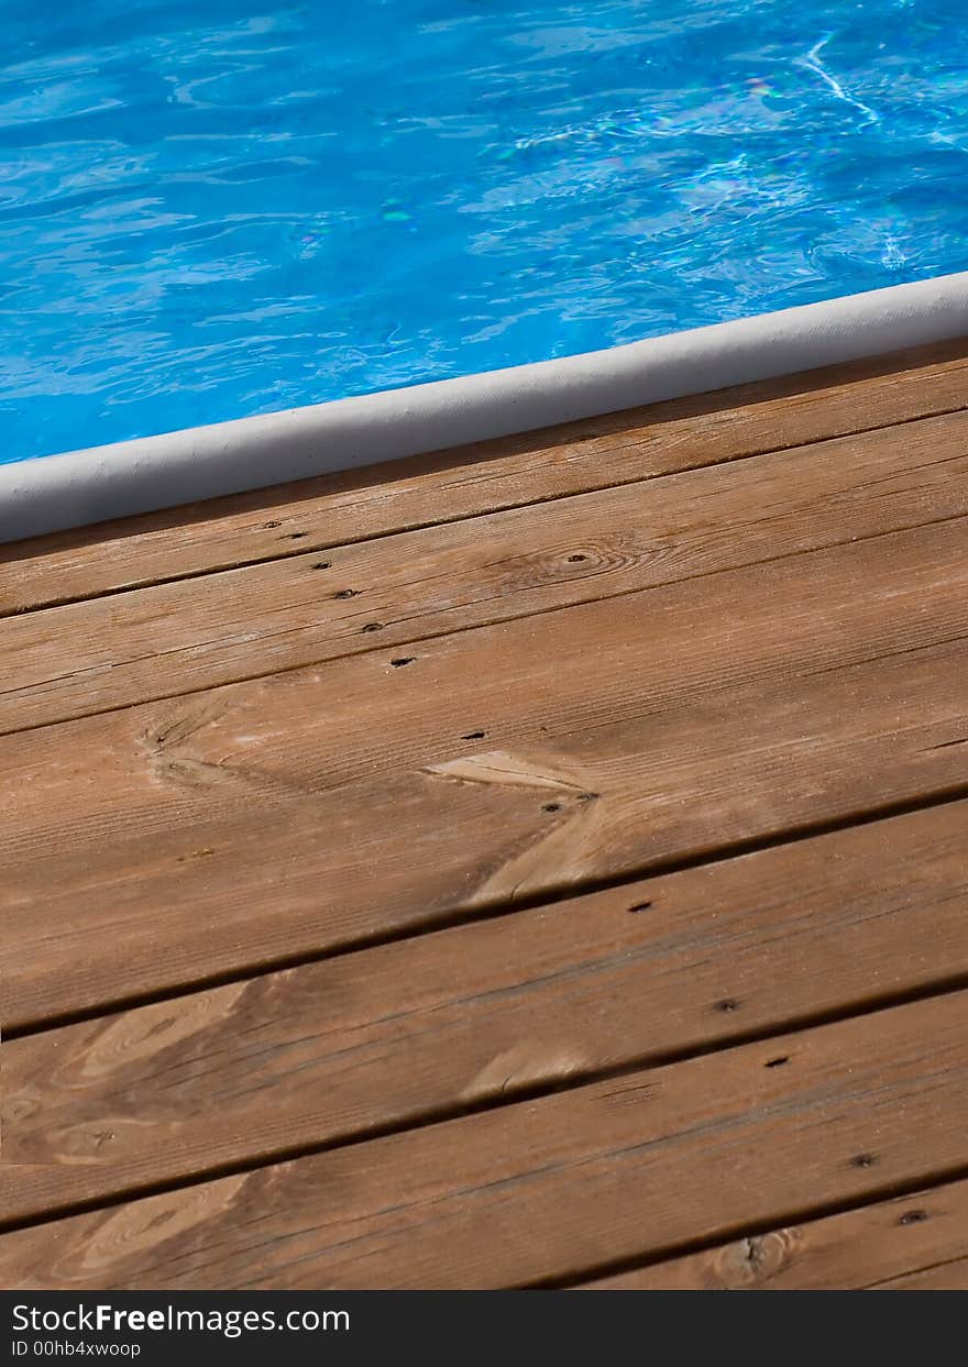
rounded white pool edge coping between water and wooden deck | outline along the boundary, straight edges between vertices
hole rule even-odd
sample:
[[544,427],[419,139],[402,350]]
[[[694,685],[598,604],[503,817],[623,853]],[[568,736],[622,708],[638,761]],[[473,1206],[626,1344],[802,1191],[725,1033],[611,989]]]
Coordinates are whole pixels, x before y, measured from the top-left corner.
[[[968,336],[968,271],[0,466],[0,543]],[[967,395],[968,399],[968,395]]]

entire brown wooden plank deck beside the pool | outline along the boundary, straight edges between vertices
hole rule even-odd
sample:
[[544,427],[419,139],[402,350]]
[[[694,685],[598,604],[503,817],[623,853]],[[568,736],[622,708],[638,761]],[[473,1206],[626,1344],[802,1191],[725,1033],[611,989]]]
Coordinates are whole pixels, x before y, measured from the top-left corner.
[[0,550],[18,1288],[968,1288],[968,340]]

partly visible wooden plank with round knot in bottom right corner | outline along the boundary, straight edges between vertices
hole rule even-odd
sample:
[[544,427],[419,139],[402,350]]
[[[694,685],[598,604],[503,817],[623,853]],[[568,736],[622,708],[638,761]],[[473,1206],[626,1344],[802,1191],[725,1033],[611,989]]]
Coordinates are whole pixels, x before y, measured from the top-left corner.
[[968,1289],[968,1182],[675,1258],[585,1290]]

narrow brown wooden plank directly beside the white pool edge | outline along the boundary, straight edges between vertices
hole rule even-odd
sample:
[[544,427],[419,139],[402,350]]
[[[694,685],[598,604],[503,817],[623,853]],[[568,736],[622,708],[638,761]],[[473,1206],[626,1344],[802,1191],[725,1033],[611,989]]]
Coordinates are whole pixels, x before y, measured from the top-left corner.
[[0,612],[794,447],[968,406],[968,342],[0,547]]

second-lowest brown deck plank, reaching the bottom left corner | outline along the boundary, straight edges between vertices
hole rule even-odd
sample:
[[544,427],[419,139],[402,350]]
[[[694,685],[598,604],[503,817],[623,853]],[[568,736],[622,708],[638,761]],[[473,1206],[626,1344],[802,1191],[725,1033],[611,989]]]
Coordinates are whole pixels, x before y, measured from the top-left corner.
[[11,1289],[494,1288],[964,1162],[968,994],[8,1234]]

